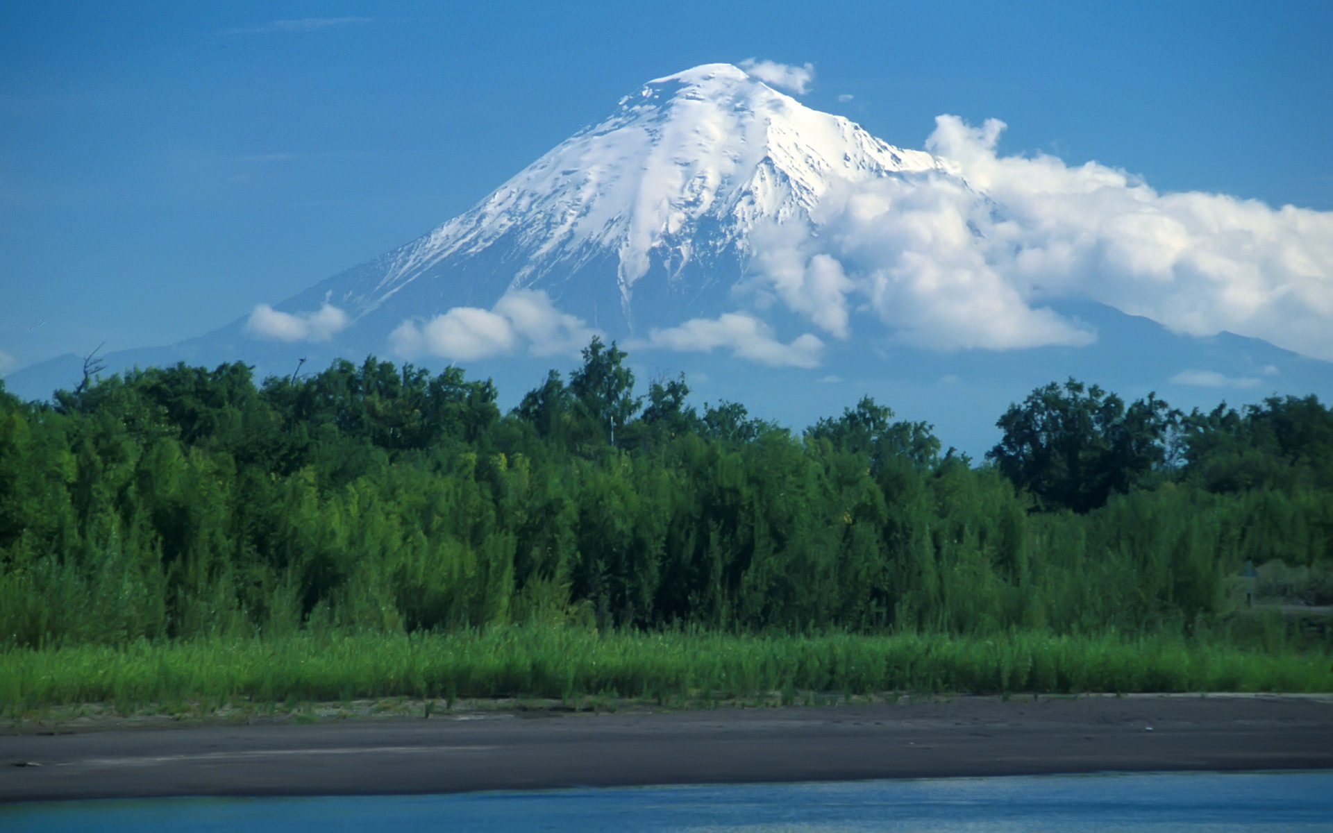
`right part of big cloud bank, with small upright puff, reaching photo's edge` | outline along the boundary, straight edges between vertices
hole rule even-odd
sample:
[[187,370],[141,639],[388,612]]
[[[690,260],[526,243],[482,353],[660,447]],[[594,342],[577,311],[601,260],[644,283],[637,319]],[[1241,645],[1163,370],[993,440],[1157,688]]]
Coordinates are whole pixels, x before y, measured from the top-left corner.
[[1097,163],[996,156],[996,120],[936,123],[926,147],[1004,207],[976,248],[1020,293],[1090,297],[1176,332],[1225,329],[1333,359],[1333,212],[1158,193]]

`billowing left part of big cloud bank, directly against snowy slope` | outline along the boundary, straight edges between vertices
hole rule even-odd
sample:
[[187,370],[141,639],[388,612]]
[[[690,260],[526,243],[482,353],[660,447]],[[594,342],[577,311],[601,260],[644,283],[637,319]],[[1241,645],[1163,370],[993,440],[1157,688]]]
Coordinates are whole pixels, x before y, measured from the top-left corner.
[[[862,311],[902,343],[941,351],[1086,345],[1096,335],[1033,308],[978,247],[976,195],[953,179],[874,180],[836,188],[820,233],[786,223],[756,233],[740,292],[780,300],[834,339]],[[973,225],[969,225],[973,223]]]

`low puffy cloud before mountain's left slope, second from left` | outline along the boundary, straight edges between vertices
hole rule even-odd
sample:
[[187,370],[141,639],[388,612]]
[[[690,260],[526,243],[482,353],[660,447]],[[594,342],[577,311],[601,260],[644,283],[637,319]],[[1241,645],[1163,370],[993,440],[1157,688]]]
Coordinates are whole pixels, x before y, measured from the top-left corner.
[[389,335],[404,359],[443,356],[472,361],[509,355],[527,345],[533,356],[577,355],[596,331],[560,312],[545,292],[511,289],[491,309],[455,307],[423,325],[408,319]]

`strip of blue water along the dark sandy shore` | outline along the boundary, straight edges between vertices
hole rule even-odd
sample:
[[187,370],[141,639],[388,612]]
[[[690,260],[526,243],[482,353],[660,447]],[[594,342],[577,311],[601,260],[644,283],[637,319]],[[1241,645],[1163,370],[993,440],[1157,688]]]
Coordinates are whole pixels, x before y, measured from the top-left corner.
[[0,806],[0,829],[44,833],[1333,830],[1333,772],[61,801]]

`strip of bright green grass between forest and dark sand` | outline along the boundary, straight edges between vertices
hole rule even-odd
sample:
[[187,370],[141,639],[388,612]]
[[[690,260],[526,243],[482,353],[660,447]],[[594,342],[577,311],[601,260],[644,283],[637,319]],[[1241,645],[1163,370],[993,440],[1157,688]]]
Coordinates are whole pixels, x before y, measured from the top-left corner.
[[0,653],[9,716],[64,704],[273,704],[367,697],[645,697],[678,705],[778,692],[1333,692],[1324,650],[1172,636],[726,636],[492,628],[301,633]]

